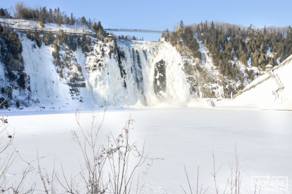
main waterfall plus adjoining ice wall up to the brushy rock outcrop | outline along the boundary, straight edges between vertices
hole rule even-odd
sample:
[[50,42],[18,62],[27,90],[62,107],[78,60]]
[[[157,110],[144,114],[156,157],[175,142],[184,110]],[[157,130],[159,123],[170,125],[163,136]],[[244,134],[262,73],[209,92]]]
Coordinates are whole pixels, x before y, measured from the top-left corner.
[[114,45],[99,41],[92,47],[86,56],[80,48],[75,52],[84,67],[85,93],[92,104],[152,106],[189,99],[182,59],[168,43],[117,41]]

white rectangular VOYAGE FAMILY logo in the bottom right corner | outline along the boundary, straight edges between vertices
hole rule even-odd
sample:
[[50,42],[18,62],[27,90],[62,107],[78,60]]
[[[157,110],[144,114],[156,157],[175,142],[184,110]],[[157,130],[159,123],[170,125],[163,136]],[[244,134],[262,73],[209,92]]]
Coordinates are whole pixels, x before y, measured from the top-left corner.
[[269,192],[288,190],[288,176],[252,176],[251,189]]

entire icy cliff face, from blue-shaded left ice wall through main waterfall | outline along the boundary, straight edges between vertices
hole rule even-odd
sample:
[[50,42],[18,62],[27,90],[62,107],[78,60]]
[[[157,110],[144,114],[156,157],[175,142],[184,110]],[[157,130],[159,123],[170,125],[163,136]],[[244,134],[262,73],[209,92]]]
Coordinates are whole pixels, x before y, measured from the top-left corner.
[[190,98],[182,57],[169,43],[93,38],[85,53],[63,44],[58,66],[52,45],[39,48],[26,34],[19,37],[29,90],[13,91],[12,101],[22,107],[153,106]]

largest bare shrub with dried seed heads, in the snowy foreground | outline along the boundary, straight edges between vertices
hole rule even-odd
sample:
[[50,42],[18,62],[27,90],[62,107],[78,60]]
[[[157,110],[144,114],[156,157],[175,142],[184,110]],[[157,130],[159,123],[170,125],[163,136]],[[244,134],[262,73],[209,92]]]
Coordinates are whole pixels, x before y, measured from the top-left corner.
[[[144,146],[142,151],[139,151],[137,142],[130,141],[130,126],[134,122],[131,118],[127,120],[125,127],[116,138],[111,132],[107,134],[106,146],[98,144],[98,132],[104,122],[105,111],[100,124],[97,124],[95,121],[98,115],[92,114],[93,119],[91,127],[87,130],[84,130],[81,127],[79,109],[77,109],[75,113],[81,136],[79,137],[79,133],[76,131],[72,131],[72,134],[74,141],[81,149],[84,163],[80,163],[80,173],[76,176],[71,176],[70,179],[65,176],[63,166],[61,165],[62,175],[65,182],[62,182],[60,177],[55,173],[58,182],[65,189],[65,193],[129,193],[134,184],[133,179],[136,169],[146,160],[154,160],[152,158],[147,158],[147,154],[144,152]],[[133,160],[132,157],[137,160]],[[136,163],[133,165],[134,161],[136,161]],[[130,163],[131,165],[129,165]],[[152,164],[148,164],[149,167],[151,165]],[[105,166],[107,166],[107,169],[105,169]],[[85,188],[79,188],[81,185],[80,178],[85,185]],[[139,176],[135,183],[137,184],[136,193],[138,193],[143,188],[142,185],[141,188],[138,189]],[[86,192],[84,192],[84,189]]]

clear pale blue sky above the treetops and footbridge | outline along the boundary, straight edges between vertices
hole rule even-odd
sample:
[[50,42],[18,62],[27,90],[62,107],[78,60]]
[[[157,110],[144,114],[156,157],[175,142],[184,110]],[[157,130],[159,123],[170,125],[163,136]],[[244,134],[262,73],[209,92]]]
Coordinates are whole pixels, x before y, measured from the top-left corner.
[[[0,7],[9,8],[18,2],[16,0],[1,0]],[[102,22],[105,28],[133,28],[164,30],[167,25],[183,20],[186,25],[200,23],[201,21],[228,22],[254,27],[292,25],[291,0],[26,0],[30,7],[46,6],[59,7],[67,15],[71,12],[76,17],[85,16],[86,19],[95,18]],[[169,30],[173,30],[169,26]],[[162,27],[162,28],[159,28]],[[134,35],[144,40],[157,40],[161,34],[150,33],[118,33]]]

